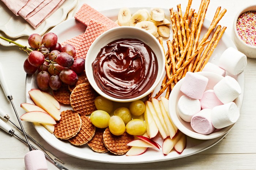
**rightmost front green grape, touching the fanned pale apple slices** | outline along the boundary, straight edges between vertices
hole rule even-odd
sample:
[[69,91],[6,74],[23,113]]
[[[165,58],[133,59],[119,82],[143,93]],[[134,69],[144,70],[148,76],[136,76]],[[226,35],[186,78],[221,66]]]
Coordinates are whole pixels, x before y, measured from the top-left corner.
[[146,123],[141,119],[133,119],[127,123],[125,131],[130,135],[143,135],[146,132]]

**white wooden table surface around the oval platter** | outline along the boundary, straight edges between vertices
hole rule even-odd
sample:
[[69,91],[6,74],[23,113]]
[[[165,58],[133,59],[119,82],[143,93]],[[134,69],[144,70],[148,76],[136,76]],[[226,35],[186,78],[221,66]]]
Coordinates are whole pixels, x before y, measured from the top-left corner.
[[[192,8],[199,8],[201,0],[193,0]],[[185,10],[188,0],[80,0],[97,10],[121,7],[162,7],[176,8],[181,3]],[[226,8],[227,12],[221,20],[222,26],[227,26],[225,34],[231,36],[234,16],[244,5],[256,4],[255,0],[211,0],[206,18],[211,19],[218,6]],[[1,19],[0,19],[1,20]],[[256,54],[255,54],[256,55]],[[23,62],[26,55],[18,47],[0,46],[0,61],[3,63],[7,82],[14,97],[14,104],[18,113],[24,113],[20,103],[25,100],[25,78]],[[231,131],[215,146],[189,157],[171,161],[141,163],[141,164],[112,164],[92,162],[66,155],[46,143],[37,134],[33,125],[23,122],[25,130],[47,150],[61,158],[68,169],[256,169],[256,60],[248,59],[244,70],[245,92],[241,108],[241,116]],[[0,88],[0,107],[16,121],[10,102],[5,98]],[[16,130],[17,132],[17,130]],[[19,132],[17,132],[19,133]],[[28,152],[27,146],[0,130],[0,169],[25,169],[24,156]],[[57,169],[48,162],[49,169]]]

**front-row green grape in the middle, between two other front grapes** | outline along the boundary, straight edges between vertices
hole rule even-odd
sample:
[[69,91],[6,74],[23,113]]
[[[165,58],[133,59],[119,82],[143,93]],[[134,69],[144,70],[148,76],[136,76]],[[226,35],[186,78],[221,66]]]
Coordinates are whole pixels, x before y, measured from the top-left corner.
[[125,131],[124,121],[119,116],[112,116],[109,119],[109,130],[113,135],[122,135]]

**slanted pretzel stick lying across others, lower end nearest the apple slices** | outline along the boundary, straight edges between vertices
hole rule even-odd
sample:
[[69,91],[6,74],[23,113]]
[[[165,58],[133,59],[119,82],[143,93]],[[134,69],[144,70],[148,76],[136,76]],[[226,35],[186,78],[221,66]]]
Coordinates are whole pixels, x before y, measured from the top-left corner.
[[203,50],[204,46],[206,46],[209,42],[209,40],[206,40],[204,43],[202,43],[202,45],[195,51],[195,53],[192,54],[189,57],[189,59],[182,64],[182,66],[176,71],[176,73],[171,77],[171,79],[168,82],[166,82],[162,89],[159,90],[159,92],[155,95],[154,98],[158,98],[166,90],[166,88],[173,82],[174,78],[176,78],[180,74],[180,72],[189,64],[189,62],[191,62],[192,59],[194,59],[196,55],[199,53],[199,51]]

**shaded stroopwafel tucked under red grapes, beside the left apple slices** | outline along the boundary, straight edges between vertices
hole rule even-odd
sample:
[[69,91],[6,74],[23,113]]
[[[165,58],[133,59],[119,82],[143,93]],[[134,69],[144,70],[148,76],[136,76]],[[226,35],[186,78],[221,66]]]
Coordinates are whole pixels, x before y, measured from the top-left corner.
[[62,84],[58,90],[53,90],[53,96],[57,101],[63,104],[70,104],[70,94],[67,84]]

